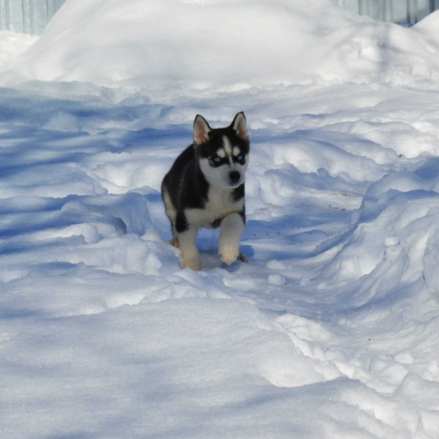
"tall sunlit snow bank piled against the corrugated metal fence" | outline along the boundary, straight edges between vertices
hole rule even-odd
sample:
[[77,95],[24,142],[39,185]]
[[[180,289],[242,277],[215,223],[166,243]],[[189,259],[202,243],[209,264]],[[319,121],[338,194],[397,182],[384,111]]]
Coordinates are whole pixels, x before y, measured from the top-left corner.
[[32,78],[181,90],[437,80],[438,14],[426,20],[405,29],[331,0],[67,1],[1,83]]

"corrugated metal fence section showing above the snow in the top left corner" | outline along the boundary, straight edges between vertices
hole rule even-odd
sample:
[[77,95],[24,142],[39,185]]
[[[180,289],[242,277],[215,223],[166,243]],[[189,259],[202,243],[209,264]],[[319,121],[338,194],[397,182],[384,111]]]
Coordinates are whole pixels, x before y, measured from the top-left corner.
[[40,35],[66,0],[0,0],[0,30]]

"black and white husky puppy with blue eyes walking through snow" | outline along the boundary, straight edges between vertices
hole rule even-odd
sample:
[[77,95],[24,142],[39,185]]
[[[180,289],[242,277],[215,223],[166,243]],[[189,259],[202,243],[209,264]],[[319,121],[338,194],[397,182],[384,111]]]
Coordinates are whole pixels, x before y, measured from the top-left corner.
[[243,112],[225,128],[212,129],[202,116],[195,117],[194,143],[177,157],[162,182],[171,244],[181,250],[181,268],[201,269],[196,246],[200,227],[220,227],[218,254],[224,263],[248,262],[239,241],[245,225],[249,151]]

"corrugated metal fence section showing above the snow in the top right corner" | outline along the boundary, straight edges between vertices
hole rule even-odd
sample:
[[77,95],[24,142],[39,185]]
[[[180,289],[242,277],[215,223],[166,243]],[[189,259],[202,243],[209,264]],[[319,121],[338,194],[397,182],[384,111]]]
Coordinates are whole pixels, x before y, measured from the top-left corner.
[[337,0],[348,11],[379,22],[415,24],[439,9],[439,0]]

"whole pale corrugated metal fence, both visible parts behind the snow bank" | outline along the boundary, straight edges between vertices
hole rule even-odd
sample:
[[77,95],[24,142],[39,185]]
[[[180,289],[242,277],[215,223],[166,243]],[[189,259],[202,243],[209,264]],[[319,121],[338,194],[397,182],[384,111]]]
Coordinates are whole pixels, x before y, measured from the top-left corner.
[[[0,30],[43,33],[66,0],[0,0]],[[345,9],[380,22],[410,24],[439,9],[439,0],[335,0]]]

